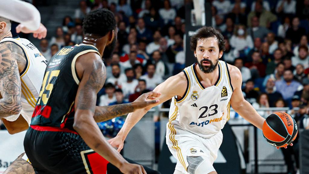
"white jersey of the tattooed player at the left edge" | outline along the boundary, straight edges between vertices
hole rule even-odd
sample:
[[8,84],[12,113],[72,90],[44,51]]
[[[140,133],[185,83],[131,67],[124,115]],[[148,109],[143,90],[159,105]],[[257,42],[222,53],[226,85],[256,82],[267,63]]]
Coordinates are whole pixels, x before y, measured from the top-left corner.
[[[31,117],[36,106],[36,100],[39,97],[44,72],[47,66],[47,61],[40,51],[27,39],[20,37],[5,37],[0,43],[13,42],[18,45],[26,57],[26,67],[20,73],[21,81],[21,103],[22,110],[20,114],[30,124]],[[8,121],[15,121],[18,115],[11,115],[5,119]]]

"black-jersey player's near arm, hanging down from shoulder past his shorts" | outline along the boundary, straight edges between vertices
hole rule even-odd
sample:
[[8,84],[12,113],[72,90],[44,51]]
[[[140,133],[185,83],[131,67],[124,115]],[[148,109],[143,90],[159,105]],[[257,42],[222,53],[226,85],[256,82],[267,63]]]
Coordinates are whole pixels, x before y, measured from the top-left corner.
[[[128,163],[104,138],[93,118],[96,95],[102,88],[106,74],[101,57],[95,53],[79,56],[75,65],[82,78],[75,98],[75,115],[73,128],[86,144],[120,169],[122,173],[144,170],[142,166]],[[78,73],[80,75],[81,73]]]

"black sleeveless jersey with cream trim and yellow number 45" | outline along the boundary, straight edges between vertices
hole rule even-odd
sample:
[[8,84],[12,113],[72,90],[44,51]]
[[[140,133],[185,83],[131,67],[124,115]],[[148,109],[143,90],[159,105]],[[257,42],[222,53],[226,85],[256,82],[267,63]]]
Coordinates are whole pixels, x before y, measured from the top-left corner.
[[74,130],[74,101],[80,81],[75,62],[79,56],[89,52],[99,54],[95,46],[75,45],[63,47],[52,57],[45,71],[31,125]]

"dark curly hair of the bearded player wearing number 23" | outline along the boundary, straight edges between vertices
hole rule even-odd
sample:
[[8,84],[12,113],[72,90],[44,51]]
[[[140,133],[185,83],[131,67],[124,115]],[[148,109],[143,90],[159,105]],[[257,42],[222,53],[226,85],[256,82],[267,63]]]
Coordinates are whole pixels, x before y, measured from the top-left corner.
[[218,39],[219,51],[225,51],[225,41],[223,35],[213,27],[202,27],[198,29],[197,33],[191,37],[190,46],[191,50],[195,51],[197,41],[202,38],[216,37]]

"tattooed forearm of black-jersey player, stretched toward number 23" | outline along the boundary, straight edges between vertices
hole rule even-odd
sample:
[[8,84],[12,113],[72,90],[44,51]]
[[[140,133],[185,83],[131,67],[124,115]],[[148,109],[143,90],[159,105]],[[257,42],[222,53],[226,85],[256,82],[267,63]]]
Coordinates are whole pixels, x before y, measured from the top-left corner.
[[132,103],[101,107],[96,106],[95,115],[93,117],[95,119],[95,122],[98,123],[128,114],[130,112],[133,112],[134,110],[135,108],[133,107]]

